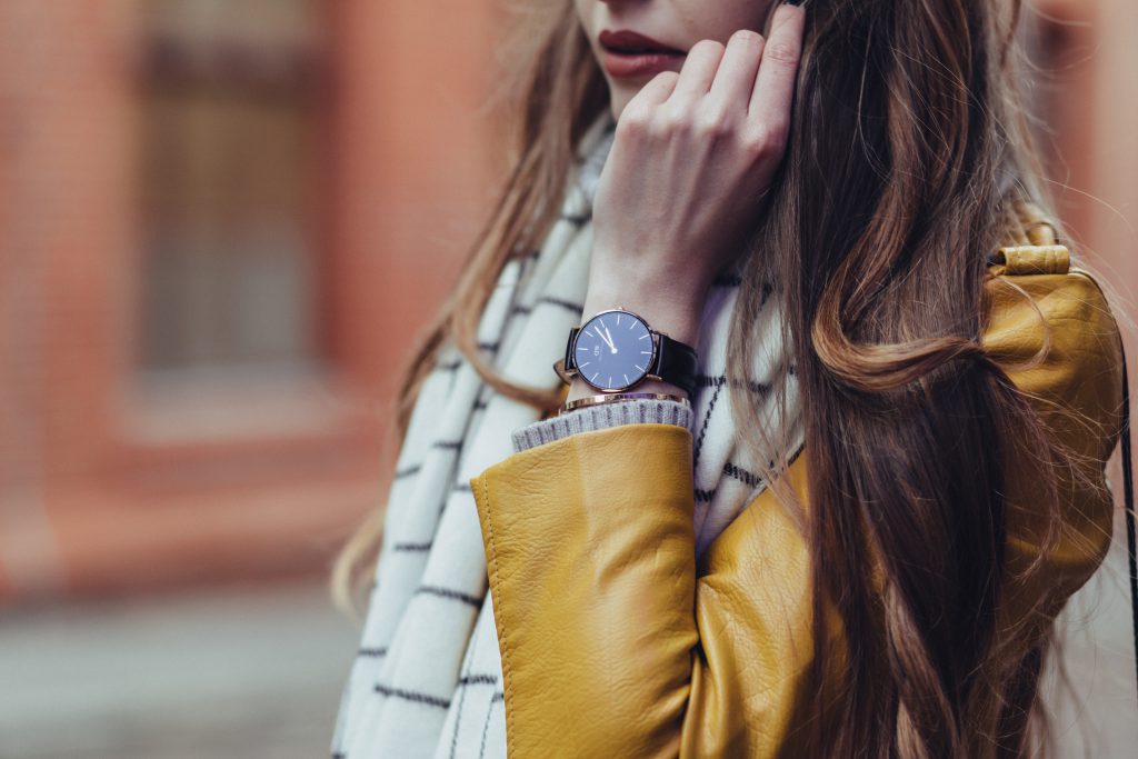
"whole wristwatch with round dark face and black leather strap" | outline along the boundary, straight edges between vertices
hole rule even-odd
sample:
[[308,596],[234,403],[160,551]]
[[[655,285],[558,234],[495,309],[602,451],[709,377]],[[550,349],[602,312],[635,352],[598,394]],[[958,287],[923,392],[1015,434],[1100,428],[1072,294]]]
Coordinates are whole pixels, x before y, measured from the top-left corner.
[[695,389],[695,349],[649,327],[626,308],[602,311],[569,330],[566,357],[553,370],[566,382],[580,376],[602,393],[624,393],[645,379]]

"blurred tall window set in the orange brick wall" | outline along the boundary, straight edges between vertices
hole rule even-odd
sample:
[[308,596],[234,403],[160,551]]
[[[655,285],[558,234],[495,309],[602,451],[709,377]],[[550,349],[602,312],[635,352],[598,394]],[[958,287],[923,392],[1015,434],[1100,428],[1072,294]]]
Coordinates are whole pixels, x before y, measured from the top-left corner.
[[312,365],[324,3],[146,5],[141,369]]

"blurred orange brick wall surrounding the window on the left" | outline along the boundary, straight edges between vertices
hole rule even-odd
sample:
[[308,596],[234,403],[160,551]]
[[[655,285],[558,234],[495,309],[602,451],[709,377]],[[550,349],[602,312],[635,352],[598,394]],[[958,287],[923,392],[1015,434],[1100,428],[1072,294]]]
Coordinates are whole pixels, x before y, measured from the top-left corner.
[[143,3],[0,2],[0,599],[324,572],[381,501],[386,402],[487,206],[492,30],[325,7],[332,372],[171,399],[133,377]]

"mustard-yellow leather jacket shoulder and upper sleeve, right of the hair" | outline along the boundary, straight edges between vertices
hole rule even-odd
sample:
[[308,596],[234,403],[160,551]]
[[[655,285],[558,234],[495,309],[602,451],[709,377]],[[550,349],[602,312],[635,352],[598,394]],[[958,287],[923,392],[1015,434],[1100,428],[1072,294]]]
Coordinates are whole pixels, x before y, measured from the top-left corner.
[[[1125,420],[1123,355],[1106,296],[1065,248],[1001,249],[989,274],[984,350],[1054,446],[1039,451],[1026,434],[1005,442],[1005,562],[1015,579],[1001,616],[1012,625],[1032,610],[1056,613],[1110,547],[1105,470]],[[1054,478],[1057,492],[1045,486]],[[1057,511],[1044,508],[1055,496]]]

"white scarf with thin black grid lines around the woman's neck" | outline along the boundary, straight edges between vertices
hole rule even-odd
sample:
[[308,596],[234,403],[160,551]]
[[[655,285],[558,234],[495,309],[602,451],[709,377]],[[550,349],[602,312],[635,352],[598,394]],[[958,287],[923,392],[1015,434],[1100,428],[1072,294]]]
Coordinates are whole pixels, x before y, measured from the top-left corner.
[[[556,389],[552,364],[582,322],[592,249],[592,199],[612,141],[603,117],[578,147],[561,218],[541,250],[502,270],[478,339],[500,373]],[[736,447],[726,373],[737,278],[720,278],[703,312],[700,381],[693,394],[696,555],[764,488],[745,446]],[[777,298],[754,328],[762,336],[752,386],[772,439],[801,443],[798,393],[789,419],[768,391],[787,368]],[[514,430],[538,409],[486,386],[447,344],[428,376],[399,452],[387,503],[363,636],[340,700],[332,756],[347,759],[504,759],[502,662],[487,592],[486,556],[468,480],[513,453]]]

